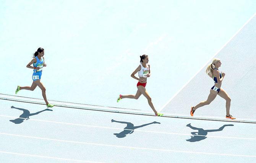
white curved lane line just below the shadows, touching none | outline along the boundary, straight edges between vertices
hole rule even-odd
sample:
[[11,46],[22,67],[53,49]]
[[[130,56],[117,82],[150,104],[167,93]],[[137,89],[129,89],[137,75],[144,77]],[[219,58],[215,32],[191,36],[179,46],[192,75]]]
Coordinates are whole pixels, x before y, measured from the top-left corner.
[[98,143],[89,143],[89,142],[66,141],[66,140],[49,139],[49,138],[45,138],[45,137],[24,136],[24,135],[17,135],[17,134],[7,134],[7,133],[0,133],[0,134],[8,135],[8,136],[17,136],[17,137],[27,137],[27,138],[33,138],[33,139],[50,140],[50,141],[70,142],[70,143],[89,144],[89,145],[99,145],[99,146],[106,146],[106,147],[119,147],[119,148],[128,148],[128,149],[143,149],[143,150],[155,150],[155,151],[165,151],[165,152],[180,152],[180,153],[197,153],[197,154],[206,154],[206,155],[256,157],[254,155],[235,155],[235,154],[223,154],[223,153],[191,152],[191,151],[183,151],[183,150],[154,149],[154,148],[143,148],[143,147],[128,147],[128,146],[122,146],[122,145],[109,145],[109,144],[98,144]]

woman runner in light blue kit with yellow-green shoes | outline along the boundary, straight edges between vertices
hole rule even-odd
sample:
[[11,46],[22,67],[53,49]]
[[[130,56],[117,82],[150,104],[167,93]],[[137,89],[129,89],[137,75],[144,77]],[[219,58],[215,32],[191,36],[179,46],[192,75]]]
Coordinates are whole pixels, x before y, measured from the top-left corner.
[[[24,87],[18,85],[18,87],[15,91],[15,94],[17,94],[18,91],[21,89],[34,91],[34,89],[37,86],[39,86],[39,88],[41,88],[41,90],[42,90],[42,95],[44,97],[44,101],[45,101],[47,107],[53,107],[54,105],[49,104],[49,102],[47,101],[46,93],[45,93],[46,89],[45,89],[43,83],[40,81],[41,76],[42,76],[42,69],[43,69],[43,67],[46,66],[43,56],[44,56],[44,49],[38,48],[37,51],[34,53],[34,56],[33,56],[34,59],[32,59],[27,65],[28,68],[34,69],[33,74],[32,74],[33,83],[31,86],[24,86]],[[33,64],[33,67],[31,66],[31,64]]]

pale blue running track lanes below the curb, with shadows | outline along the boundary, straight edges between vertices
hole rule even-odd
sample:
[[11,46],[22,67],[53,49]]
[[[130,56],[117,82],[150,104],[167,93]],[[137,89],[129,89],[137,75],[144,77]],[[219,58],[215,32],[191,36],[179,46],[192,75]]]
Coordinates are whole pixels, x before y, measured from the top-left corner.
[[0,100],[2,162],[255,162],[254,123]]

